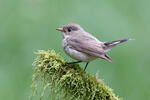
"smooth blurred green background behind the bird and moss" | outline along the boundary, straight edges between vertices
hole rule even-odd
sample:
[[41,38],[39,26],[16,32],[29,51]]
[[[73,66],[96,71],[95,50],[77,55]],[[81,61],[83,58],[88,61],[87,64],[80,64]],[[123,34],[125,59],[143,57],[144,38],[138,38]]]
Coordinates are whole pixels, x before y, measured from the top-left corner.
[[[134,38],[95,60],[99,72],[124,100],[150,100],[150,0],[0,0],[0,100],[28,100],[37,50],[62,50],[56,31],[78,23],[101,41]],[[84,64],[81,64],[84,67]]]

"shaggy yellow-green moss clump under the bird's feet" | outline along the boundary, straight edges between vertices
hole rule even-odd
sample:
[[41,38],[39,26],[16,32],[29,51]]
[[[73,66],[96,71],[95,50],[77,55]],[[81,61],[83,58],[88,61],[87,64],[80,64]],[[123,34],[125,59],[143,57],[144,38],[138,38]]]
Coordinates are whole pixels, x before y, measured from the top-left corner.
[[33,96],[40,91],[40,99],[48,94],[51,100],[120,100],[96,76],[87,74],[78,64],[66,64],[55,51],[41,50],[37,54],[33,63]]

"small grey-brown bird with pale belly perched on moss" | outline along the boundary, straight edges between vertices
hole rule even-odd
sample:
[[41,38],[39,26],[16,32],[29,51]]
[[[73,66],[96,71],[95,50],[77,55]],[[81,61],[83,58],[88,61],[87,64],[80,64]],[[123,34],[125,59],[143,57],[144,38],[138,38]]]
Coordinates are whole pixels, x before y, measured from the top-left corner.
[[63,28],[57,28],[56,30],[61,31],[63,34],[62,46],[65,53],[77,60],[76,62],[68,64],[86,62],[84,71],[88,63],[96,58],[102,58],[112,62],[112,59],[107,56],[106,53],[117,44],[132,40],[123,39],[111,42],[101,42],[86,32],[78,24],[68,24]]

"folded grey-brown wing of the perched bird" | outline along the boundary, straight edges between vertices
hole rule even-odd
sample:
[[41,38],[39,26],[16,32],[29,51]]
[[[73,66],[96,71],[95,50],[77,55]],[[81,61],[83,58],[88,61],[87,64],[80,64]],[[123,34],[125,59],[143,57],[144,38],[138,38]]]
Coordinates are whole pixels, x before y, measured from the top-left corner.
[[112,59],[104,53],[104,49],[101,44],[93,38],[88,38],[86,36],[81,36],[79,38],[72,37],[69,38],[67,42],[70,47],[77,51],[86,53],[90,56],[95,56],[97,58],[102,58],[110,62],[112,61]]

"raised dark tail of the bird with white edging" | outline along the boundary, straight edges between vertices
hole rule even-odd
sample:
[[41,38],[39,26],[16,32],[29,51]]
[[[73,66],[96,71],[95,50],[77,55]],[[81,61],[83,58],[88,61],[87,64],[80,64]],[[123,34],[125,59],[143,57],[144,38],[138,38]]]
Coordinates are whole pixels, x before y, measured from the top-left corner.
[[133,39],[123,39],[123,40],[117,40],[117,41],[111,41],[111,42],[104,42],[104,49],[105,50],[110,50],[112,47],[116,46],[117,44],[133,40]]

